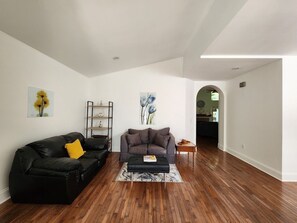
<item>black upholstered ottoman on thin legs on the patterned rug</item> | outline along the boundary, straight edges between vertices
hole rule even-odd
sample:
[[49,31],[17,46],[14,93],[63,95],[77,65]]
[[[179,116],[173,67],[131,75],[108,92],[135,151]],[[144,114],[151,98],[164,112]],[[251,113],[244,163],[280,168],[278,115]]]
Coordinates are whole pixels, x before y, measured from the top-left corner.
[[144,162],[143,156],[132,156],[128,160],[127,171],[132,173],[164,173],[164,182],[166,173],[169,173],[170,166],[166,157],[157,157],[157,162]]

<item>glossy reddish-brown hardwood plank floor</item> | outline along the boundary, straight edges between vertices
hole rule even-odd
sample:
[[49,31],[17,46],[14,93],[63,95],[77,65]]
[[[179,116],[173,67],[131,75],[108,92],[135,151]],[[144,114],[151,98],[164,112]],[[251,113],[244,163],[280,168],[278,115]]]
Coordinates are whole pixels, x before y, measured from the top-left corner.
[[0,205],[0,222],[297,222],[297,183],[282,183],[200,140],[183,183],[115,182],[119,154],[71,205]]

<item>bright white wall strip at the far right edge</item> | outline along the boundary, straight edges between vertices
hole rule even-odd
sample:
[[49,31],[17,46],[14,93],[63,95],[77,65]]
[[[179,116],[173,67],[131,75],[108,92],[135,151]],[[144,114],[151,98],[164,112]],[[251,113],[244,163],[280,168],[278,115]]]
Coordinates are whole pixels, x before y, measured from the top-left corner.
[[283,59],[283,181],[297,181],[297,57]]

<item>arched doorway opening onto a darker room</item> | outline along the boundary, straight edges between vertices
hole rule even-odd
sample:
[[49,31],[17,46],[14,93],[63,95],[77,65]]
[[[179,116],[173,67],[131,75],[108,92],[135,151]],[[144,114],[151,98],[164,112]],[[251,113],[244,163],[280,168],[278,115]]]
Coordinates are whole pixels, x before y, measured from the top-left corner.
[[224,95],[220,88],[207,85],[196,95],[196,141],[208,140],[224,150]]

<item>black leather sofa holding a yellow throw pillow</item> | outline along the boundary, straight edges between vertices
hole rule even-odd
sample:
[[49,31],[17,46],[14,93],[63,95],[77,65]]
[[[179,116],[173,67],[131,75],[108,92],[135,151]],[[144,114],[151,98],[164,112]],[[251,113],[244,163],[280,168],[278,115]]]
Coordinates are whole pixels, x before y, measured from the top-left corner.
[[[79,139],[86,153],[71,159],[66,143]],[[15,153],[9,191],[15,203],[70,204],[88,185],[108,156],[106,138],[86,139],[81,133],[32,142]]]

